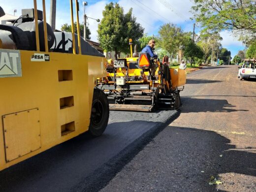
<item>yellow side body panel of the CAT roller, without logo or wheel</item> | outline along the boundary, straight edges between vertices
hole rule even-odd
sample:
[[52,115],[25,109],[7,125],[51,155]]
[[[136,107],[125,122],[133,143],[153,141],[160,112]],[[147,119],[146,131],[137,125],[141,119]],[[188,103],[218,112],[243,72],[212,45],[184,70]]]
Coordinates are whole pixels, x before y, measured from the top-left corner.
[[38,53],[20,51],[21,76],[0,78],[0,170],[87,131],[95,80],[106,75],[102,57],[47,52],[50,61],[31,61]]

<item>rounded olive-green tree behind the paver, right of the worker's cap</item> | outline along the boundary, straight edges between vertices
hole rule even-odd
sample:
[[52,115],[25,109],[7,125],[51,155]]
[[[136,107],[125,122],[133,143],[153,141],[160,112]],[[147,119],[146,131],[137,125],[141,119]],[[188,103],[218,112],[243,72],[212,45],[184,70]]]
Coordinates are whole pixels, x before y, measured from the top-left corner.
[[181,45],[185,45],[190,32],[183,32],[181,27],[174,24],[164,24],[160,26],[159,37],[156,39],[159,47],[165,49],[171,54],[171,62]]

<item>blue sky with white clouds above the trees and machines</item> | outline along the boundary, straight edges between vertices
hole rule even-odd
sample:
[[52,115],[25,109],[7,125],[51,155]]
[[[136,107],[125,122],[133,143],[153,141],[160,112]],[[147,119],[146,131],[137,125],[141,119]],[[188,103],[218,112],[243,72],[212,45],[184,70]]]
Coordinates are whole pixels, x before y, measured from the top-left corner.
[[[74,0],[73,0],[74,1]],[[180,26],[183,31],[193,31],[193,23],[190,18],[190,12],[193,0],[112,0],[119,3],[125,13],[129,8],[133,9],[133,15],[137,22],[145,29],[144,33],[148,35],[157,35],[161,25],[166,23],[173,23]],[[37,8],[42,10],[42,0],[37,0]],[[70,0],[57,0],[56,12],[56,29],[60,30],[64,23],[70,24]],[[84,6],[83,0],[79,2],[79,22],[83,22]],[[102,19],[102,10],[111,0],[87,0],[88,5],[85,7],[86,15],[95,19]],[[46,3],[46,20],[49,21],[50,0],[45,0]],[[21,15],[22,8],[32,8],[33,0],[0,0],[0,6],[5,13],[14,14],[13,10],[17,9],[16,16]],[[75,7],[75,6],[74,6]],[[75,18],[74,18],[75,19]],[[98,23],[88,18],[87,25],[91,31],[91,40],[97,41],[97,25]],[[200,29],[195,28],[195,32],[199,33]],[[222,46],[231,51],[233,58],[239,50],[243,50],[242,42],[233,37],[231,32],[221,32],[223,37]]]

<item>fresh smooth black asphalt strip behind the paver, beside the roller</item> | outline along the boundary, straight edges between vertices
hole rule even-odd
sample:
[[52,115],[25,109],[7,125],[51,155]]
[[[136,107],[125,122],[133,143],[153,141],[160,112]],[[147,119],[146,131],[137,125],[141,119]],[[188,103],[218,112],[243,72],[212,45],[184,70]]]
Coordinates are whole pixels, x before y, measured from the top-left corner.
[[102,136],[82,134],[1,171],[0,192],[100,189],[177,115],[177,111],[112,111]]

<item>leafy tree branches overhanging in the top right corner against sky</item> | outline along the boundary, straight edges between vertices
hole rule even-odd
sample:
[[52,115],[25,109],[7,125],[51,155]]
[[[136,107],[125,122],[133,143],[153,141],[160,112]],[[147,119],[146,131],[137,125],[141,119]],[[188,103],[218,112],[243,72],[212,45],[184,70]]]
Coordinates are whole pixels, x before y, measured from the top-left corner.
[[194,0],[192,12],[205,30],[256,33],[255,0]]

